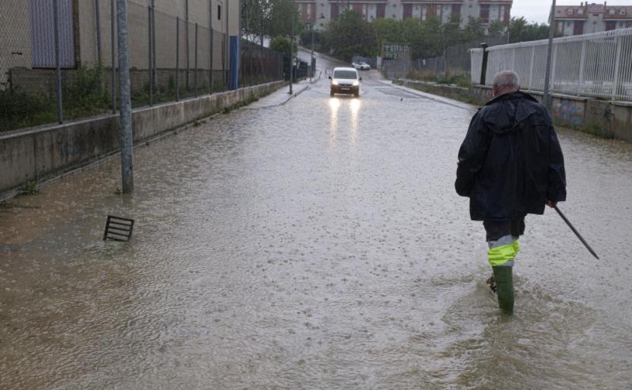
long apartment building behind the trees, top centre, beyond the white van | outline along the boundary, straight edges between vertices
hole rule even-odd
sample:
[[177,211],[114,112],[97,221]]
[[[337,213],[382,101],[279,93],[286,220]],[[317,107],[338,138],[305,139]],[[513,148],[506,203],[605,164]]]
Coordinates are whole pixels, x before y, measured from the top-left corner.
[[513,0],[296,0],[303,21],[314,23],[316,28],[323,28],[345,9],[355,10],[367,21],[437,18],[446,23],[458,15],[462,26],[470,17],[487,24],[499,20],[508,25],[512,3]]

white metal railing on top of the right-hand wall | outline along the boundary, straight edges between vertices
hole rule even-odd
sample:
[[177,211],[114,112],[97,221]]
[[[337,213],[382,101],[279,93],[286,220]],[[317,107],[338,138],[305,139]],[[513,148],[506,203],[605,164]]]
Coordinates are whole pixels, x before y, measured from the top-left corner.
[[[632,101],[632,28],[553,40],[550,92]],[[487,49],[485,84],[496,72],[513,70],[523,89],[544,90],[548,40]],[[471,49],[471,80],[480,83],[483,49]]]

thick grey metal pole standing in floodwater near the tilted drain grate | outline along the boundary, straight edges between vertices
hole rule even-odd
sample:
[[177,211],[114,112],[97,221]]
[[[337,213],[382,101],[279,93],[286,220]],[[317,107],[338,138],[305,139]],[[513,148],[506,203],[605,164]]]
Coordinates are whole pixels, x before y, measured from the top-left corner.
[[123,193],[134,191],[133,138],[131,135],[130,55],[127,28],[127,0],[116,0],[118,24],[119,83],[121,85],[121,176]]

